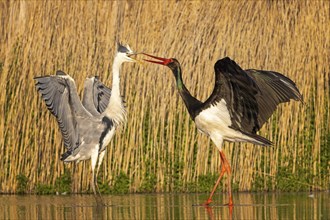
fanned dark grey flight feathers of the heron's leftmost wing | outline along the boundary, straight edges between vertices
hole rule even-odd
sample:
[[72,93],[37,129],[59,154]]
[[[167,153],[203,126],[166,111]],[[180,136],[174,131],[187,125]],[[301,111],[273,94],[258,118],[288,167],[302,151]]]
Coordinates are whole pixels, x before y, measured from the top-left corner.
[[69,91],[65,79],[57,76],[42,76],[34,79],[47,108],[56,117],[65,147],[76,146],[77,122],[69,104]]

